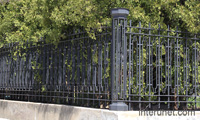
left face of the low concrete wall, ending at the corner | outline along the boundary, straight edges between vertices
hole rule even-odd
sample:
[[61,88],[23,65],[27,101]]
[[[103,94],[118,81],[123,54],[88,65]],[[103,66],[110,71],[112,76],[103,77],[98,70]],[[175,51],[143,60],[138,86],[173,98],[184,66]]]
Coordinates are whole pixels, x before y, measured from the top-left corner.
[[115,112],[66,105],[0,100],[0,118],[10,120],[117,120]]

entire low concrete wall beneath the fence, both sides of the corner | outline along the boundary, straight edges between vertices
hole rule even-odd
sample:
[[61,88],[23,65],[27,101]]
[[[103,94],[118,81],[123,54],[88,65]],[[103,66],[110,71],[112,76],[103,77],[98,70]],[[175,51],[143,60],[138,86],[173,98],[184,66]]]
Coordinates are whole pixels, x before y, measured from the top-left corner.
[[0,100],[0,120],[199,120],[195,116],[139,116],[139,111],[109,111],[66,105]]

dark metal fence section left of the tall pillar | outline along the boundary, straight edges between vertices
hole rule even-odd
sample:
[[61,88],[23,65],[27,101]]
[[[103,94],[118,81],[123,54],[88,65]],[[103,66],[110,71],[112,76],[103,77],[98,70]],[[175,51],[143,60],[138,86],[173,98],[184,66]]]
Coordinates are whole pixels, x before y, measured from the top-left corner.
[[110,27],[74,30],[58,45],[27,43],[0,49],[1,99],[106,108],[110,104]]

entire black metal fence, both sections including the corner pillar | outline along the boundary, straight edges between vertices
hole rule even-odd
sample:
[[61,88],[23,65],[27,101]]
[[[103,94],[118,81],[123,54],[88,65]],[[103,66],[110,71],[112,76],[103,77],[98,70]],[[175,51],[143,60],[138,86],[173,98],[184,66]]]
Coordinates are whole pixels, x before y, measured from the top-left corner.
[[4,46],[0,98],[97,108],[116,103],[116,110],[121,102],[129,110],[199,109],[198,34],[135,27],[127,14],[113,12],[112,28],[95,32],[96,40],[77,29],[57,45],[27,42],[15,56],[17,44]]

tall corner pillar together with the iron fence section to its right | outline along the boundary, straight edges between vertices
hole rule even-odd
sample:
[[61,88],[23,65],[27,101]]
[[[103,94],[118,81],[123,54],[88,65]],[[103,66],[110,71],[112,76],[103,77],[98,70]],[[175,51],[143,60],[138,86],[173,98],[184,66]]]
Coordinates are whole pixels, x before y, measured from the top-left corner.
[[199,35],[133,26],[126,9],[112,15],[114,106],[121,101],[129,110],[199,109]]

